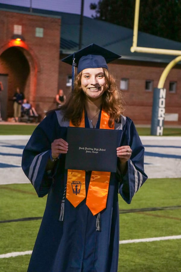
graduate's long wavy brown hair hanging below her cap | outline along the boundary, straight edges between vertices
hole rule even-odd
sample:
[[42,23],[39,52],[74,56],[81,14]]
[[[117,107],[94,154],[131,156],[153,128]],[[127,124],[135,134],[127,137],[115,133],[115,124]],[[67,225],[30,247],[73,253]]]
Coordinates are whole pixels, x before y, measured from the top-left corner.
[[[109,127],[113,127],[113,122],[115,120],[119,122],[120,116],[123,113],[122,92],[118,90],[113,75],[106,68],[103,68],[103,70],[106,78],[106,86],[102,95],[102,108],[110,116],[108,121]],[[74,126],[79,126],[81,123],[86,100],[86,94],[81,88],[81,76],[82,72],[75,78],[74,91],[60,108],[64,113],[64,119],[71,120]]]

